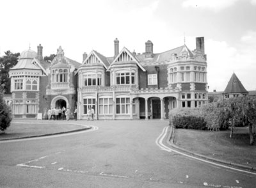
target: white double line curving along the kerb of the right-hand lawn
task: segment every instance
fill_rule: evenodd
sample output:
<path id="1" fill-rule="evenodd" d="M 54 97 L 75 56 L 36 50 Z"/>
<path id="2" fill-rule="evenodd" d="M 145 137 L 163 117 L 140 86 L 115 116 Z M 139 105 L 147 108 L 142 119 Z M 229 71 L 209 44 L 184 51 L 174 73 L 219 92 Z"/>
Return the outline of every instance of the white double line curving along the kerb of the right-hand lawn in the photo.
<path id="1" fill-rule="evenodd" d="M 209 164 L 213 164 L 215 166 L 221 166 L 223 168 L 227 168 L 227 169 L 232 169 L 234 171 L 240 171 L 240 172 L 244 172 L 244 173 L 250 173 L 252 175 L 256 175 L 256 173 L 253 173 L 253 172 L 250 172 L 250 171 L 246 171 L 246 170 L 243 170 L 243 169 L 237 169 L 237 168 L 232 168 L 232 167 L 229 167 L 229 166 L 225 166 L 223 164 L 218 164 L 216 162 L 211 162 L 211 161 L 207 161 L 205 159 L 200 159 L 198 157 L 194 157 L 194 156 L 191 156 L 191 155 L 188 155 L 186 153 L 182 153 L 182 152 L 179 152 L 173 148 L 169 148 L 168 146 L 165 146 L 163 144 L 163 139 L 164 137 L 166 137 L 166 134 L 167 134 L 167 131 L 168 131 L 168 127 L 164 127 L 163 131 L 161 132 L 161 134 L 159 135 L 159 137 L 157 137 L 156 139 L 156 145 L 159 146 L 162 150 L 165 150 L 166 152 L 175 152 L 175 153 L 179 153 L 180 155 L 184 155 L 186 157 L 189 157 L 191 159 L 195 159 L 195 160 L 198 160 L 198 161 L 202 161 L 202 162 L 206 162 L 206 163 L 209 163 Z"/>

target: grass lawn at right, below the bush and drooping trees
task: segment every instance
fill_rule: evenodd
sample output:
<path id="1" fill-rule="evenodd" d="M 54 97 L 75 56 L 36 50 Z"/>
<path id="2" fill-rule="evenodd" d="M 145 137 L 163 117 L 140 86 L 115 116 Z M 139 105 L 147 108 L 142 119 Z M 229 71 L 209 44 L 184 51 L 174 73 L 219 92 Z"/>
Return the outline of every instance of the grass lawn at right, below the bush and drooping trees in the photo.
<path id="1" fill-rule="evenodd" d="M 177 146 L 220 159 L 256 168 L 256 145 L 250 145 L 248 127 L 237 127 L 232 138 L 230 131 L 175 129 Z"/>

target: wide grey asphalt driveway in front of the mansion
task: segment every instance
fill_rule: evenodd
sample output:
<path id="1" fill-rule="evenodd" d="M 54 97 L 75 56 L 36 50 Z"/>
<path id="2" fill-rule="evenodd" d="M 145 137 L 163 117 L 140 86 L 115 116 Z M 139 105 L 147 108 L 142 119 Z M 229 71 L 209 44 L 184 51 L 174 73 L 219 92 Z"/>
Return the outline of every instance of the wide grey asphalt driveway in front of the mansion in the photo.
<path id="1" fill-rule="evenodd" d="M 0 142 L 0 187 L 256 187 L 256 175 L 166 151 L 168 121 L 76 123 L 93 129 Z"/>

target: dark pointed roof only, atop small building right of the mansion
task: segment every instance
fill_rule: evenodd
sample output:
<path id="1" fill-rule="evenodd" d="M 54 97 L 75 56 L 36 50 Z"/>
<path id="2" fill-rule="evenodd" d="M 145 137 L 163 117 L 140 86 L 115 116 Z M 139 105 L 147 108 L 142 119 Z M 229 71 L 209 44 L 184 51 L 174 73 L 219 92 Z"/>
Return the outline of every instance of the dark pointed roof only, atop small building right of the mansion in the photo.
<path id="1" fill-rule="evenodd" d="M 224 93 L 248 93 L 236 74 L 232 74 Z"/>

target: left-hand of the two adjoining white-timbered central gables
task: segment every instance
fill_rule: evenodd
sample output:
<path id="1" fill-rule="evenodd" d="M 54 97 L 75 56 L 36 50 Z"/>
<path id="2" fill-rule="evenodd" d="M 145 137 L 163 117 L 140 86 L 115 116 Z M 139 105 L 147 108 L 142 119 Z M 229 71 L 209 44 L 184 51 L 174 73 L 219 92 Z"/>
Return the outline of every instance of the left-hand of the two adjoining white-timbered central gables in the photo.
<path id="1" fill-rule="evenodd" d="M 93 56 L 95 56 L 95 58 L 93 58 Z M 105 56 L 103 56 L 102 54 L 94 50 L 90 52 L 90 54 L 86 59 L 84 59 L 82 64 L 93 64 L 93 63 L 102 63 L 102 65 L 104 65 L 106 69 L 108 69 L 110 65 L 108 59 Z"/>

